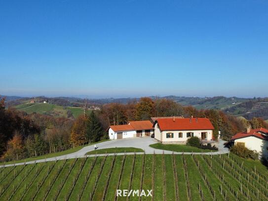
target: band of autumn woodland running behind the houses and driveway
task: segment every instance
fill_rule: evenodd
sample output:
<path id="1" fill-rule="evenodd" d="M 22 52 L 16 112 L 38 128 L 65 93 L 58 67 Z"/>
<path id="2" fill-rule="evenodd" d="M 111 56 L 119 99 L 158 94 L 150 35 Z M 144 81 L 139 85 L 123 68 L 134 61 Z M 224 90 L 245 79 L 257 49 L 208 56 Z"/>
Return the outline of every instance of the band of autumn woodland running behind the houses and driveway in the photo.
<path id="1" fill-rule="evenodd" d="M 215 127 L 214 137 L 218 137 L 220 130 L 225 140 L 237 132 L 245 131 L 249 125 L 252 128 L 268 128 L 268 124 L 260 118 L 246 120 L 220 110 L 197 110 L 160 98 L 152 100 L 143 97 L 127 104 L 105 104 L 100 111 L 92 111 L 76 120 L 35 113 L 29 115 L 12 108 L 6 109 L 4 99 L 1 99 L 0 156 L 8 161 L 63 151 L 107 139 L 109 125 L 173 116 L 208 118 Z"/>

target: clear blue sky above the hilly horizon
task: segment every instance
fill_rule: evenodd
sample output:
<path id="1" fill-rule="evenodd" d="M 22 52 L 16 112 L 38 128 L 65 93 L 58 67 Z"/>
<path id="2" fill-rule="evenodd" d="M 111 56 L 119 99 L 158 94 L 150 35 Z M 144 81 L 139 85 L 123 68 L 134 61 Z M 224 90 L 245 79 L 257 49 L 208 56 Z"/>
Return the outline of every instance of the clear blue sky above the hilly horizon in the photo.
<path id="1" fill-rule="evenodd" d="M 0 0 L 0 94 L 268 96 L 267 0 Z"/>

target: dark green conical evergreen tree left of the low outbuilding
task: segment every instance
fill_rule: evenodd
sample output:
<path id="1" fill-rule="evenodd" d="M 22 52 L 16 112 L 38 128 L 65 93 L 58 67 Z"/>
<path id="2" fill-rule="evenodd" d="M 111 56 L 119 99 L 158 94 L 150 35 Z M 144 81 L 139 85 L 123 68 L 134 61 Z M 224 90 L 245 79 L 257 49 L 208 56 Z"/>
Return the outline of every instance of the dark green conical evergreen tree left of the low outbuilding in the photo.
<path id="1" fill-rule="evenodd" d="M 87 131 L 86 138 L 89 143 L 98 142 L 105 136 L 105 132 L 102 128 L 102 125 L 99 119 L 96 117 L 94 111 L 92 111 L 89 115 L 87 121 Z"/>

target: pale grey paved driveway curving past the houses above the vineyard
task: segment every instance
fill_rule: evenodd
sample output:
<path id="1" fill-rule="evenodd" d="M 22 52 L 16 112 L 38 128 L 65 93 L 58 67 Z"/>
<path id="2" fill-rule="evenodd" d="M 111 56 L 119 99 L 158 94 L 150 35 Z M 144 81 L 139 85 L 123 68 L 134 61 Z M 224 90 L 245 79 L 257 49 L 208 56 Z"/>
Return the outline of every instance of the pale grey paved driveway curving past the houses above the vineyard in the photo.
<path id="1" fill-rule="evenodd" d="M 219 140 L 219 151 L 218 152 L 212 152 L 212 153 L 203 153 L 204 155 L 218 155 L 218 154 L 226 154 L 229 153 L 229 149 L 224 147 L 224 142 L 223 140 Z M 145 154 L 172 154 L 172 151 L 166 151 L 166 150 L 160 150 L 160 149 L 153 149 L 152 147 L 149 147 L 149 145 L 157 143 L 153 138 L 151 137 L 143 137 L 143 138 L 128 138 L 128 139 L 120 139 L 120 140 L 110 140 L 110 141 L 105 141 L 96 144 L 98 149 L 106 149 L 106 148 L 114 148 L 114 147 L 135 147 L 135 148 L 140 148 L 145 151 Z M 45 161 L 56 161 L 56 160 L 64 160 L 64 159 L 75 159 L 75 158 L 83 158 L 83 157 L 95 157 L 95 156 L 105 156 L 105 154 L 98 154 L 98 155 L 87 155 L 85 154 L 87 152 L 93 151 L 94 150 L 94 145 L 86 146 L 79 151 L 72 153 L 72 154 L 67 154 L 63 156 L 58 156 L 58 157 L 53 157 L 53 158 L 48 158 L 48 159 L 41 159 L 37 161 L 29 161 L 26 162 L 26 164 L 32 164 L 35 162 L 45 162 Z M 125 153 L 118 153 L 116 155 L 124 155 Z M 133 155 L 134 153 L 126 153 L 127 155 Z M 136 153 L 136 154 L 144 154 L 143 152 Z M 174 152 L 174 154 L 183 154 L 182 152 Z M 202 154 L 202 153 L 184 153 L 184 154 Z M 114 154 L 107 154 L 108 156 L 114 155 Z M 15 164 L 8 164 L 5 166 L 13 166 L 13 165 L 22 165 L 25 164 L 24 162 L 21 163 L 15 163 Z M 3 167 L 3 165 L 0 165 L 0 167 Z"/>

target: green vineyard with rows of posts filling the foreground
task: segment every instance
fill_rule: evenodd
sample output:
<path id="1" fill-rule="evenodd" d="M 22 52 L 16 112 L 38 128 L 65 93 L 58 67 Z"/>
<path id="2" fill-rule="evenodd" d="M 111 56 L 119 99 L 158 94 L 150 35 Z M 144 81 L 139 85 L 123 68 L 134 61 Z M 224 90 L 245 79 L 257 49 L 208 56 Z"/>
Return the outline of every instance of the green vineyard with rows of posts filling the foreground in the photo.
<path id="1" fill-rule="evenodd" d="M 0 168 L 2 201 L 268 200 L 268 173 L 232 154 L 124 155 Z M 116 189 L 153 197 L 116 197 Z"/>

